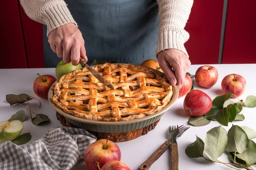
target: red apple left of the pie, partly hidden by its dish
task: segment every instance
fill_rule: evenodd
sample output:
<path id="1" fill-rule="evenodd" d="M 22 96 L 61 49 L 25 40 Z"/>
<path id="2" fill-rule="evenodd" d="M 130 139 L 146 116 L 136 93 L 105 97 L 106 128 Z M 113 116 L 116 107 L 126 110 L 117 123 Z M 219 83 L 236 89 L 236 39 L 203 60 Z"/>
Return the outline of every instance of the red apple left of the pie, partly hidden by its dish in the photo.
<path id="1" fill-rule="evenodd" d="M 33 84 L 33 90 L 35 94 L 43 99 L 48 99 L 48 91 L 51 85 L 57 80 L 55 77 L 51 75 L 40 75 L 38 74 L 38 78 L 35 79 Z"/>

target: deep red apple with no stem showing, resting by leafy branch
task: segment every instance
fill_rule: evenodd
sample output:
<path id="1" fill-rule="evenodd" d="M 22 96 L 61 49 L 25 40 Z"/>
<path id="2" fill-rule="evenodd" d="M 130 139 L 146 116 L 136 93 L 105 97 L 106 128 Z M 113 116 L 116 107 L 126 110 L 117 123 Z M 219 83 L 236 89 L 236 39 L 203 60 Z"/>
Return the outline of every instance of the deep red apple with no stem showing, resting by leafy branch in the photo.
<path id="1" fill-rule="evenodd" d="M 189 116 L 203 116 L 212 108 L 212 99 L 200 90 L 192 90 L 186 95 L 183 107 Z"/>

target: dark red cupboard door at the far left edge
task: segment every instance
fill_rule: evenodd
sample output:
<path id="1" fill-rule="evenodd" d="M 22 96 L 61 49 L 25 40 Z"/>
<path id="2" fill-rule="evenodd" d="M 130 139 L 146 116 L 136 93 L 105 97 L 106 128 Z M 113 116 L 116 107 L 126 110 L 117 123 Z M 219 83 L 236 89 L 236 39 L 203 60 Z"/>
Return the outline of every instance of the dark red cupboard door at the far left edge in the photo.
<path id="1" fill-rule="evenodd" d="M 17 0 L 1 1 L 0 68 L 28 68 Z"/>

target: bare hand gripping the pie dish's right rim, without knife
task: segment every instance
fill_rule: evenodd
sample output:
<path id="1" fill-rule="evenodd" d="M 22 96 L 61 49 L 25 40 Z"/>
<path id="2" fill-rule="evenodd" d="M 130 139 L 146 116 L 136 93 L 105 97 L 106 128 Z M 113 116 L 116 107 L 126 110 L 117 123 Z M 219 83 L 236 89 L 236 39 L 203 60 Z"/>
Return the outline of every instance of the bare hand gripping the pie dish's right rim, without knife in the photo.
<path id="1" fill-rule="evenodd" d="M 157 59 L 171 85 L 177 85 L 180 90 L 191 65 L 189 58 L 180 50 L 166 49 L 158 53 Z"/>

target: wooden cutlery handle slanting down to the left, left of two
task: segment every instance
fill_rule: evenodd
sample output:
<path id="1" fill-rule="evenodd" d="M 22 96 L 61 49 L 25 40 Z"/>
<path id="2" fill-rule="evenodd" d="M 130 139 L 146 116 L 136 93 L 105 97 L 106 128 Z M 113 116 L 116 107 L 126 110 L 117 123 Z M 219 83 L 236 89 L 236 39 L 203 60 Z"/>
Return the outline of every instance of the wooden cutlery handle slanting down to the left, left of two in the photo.
<path id="1" fill-rule="evenodd" d="M 172 142 L 164 142 L 158 149 L 146 160 L 143 164 L 140 165 L 139 170 L 148 170 L 151 165 L 158 159 L 163 153 L 171 146 Z"/>

